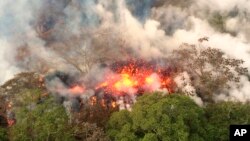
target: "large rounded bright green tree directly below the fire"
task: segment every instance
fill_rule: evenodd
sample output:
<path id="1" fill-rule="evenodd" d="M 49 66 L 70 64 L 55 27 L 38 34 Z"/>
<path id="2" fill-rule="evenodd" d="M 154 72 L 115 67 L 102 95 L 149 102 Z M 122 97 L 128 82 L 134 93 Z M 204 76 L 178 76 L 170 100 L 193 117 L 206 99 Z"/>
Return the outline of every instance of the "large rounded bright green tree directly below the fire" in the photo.
<path id="1" fill-rule="evenodd" d="M 112 140 L 204 140 L 204 111 L 187 96 L 160 93 L 140 97 L 132 112 L 114 113 L 107 126 Z"/>

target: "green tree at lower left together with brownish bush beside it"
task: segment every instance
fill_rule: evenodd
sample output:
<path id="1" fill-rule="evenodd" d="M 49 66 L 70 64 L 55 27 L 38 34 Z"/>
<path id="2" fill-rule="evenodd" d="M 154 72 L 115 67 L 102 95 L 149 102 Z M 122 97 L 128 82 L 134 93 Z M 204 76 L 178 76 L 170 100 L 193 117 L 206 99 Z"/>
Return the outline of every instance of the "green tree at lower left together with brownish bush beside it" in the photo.
<path id="1" fill-rule="evenodd" d="M 16 124 L 10 128 L 10 140 L 17 141 L 107 141 L 96 124 L 69 123 L 64 107 L 52 97 L 43 97 L 39 89 L 27 89 L 15 98 Z"/>

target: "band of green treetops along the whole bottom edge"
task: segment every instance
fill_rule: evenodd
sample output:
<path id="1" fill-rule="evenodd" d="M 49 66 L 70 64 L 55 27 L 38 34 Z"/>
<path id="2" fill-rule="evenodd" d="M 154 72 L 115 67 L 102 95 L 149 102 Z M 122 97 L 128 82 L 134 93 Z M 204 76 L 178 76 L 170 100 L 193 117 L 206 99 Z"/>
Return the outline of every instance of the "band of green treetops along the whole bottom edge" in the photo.
<path id="1" fill-rule="evenodd" d="M 81 122 L 72 124 L 62 105 L 53 98 L 40 99 L 38 90 L 26 90 L 18 98 L 17 122 L 0 128 L 0 140 L 89 141 L 226 141 L 230 124 L 250 123 L 250 104 L 220 102 L 200 107 L 188 96 L 148 93 L 133 110 L 114 112 L 105 128 Z M 108 137 L 109 136 L 109 139 Z"/>

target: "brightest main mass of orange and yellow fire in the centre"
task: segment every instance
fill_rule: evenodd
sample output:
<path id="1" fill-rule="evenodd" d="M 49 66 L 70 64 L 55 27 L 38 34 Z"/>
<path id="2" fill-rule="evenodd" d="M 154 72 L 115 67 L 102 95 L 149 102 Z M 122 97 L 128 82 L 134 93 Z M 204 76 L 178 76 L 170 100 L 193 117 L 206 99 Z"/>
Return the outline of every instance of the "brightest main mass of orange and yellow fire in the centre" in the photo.
<path id="1" fill-rule="evenodd" d="M 116 73 L 106 74 L 105 81 L 97 85 L 96 89 L 104 89 L 105 93 L 112 95 L 139 94 L 163 88 L 172 92 L 174 82 L 169 75 L 164 74 L 165 70 L 145 64 L 133 62 L 114 67 Z"/>

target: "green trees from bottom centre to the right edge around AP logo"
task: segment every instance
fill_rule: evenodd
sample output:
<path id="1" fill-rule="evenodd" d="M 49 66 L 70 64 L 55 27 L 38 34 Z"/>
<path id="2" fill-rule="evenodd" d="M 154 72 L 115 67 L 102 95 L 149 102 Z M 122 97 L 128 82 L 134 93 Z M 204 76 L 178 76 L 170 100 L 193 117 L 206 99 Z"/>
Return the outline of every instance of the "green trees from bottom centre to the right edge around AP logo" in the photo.
<path id="1" fill-rule="evenodd" d="M 230 124 L 249 124 L 250 105 L 221 102 L 199 107 L 189 97 L 160 93 L 139 98 L 133 111 L 113 114 L 112 140 L 227 141 Z"/>

